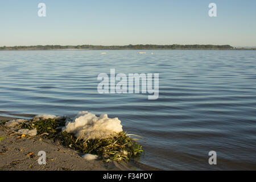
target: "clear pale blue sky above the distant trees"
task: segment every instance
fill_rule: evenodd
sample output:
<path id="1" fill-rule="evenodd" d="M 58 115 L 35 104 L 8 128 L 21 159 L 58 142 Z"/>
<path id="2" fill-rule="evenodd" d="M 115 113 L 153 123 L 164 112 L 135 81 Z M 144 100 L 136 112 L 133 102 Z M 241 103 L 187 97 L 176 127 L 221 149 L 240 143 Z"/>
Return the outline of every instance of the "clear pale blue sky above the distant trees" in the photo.
<path id="1" fill-rule="evenodd" d="M 45 18 L 38 3 L 46 3 Z M 208 5 L 217 4 L 217 17 Z M 8 0 L 0 46 L 230 44 L 256 46 L 255 0 Z"/>

